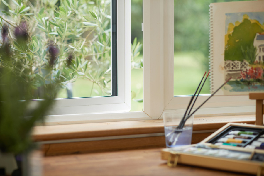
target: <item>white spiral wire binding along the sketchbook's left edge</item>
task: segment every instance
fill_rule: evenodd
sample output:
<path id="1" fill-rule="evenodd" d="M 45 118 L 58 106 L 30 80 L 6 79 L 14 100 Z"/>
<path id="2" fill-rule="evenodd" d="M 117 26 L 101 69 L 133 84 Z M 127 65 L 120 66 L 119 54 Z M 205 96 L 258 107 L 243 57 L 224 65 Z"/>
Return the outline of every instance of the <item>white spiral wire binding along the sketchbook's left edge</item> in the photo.
<path id="1" fill-rule="evenodd" d="M 213 56 L 213 7 L 209 5 L 209 67 L 210 67 L 210 84 L 211 94 L 214 93 L 214 56 Z"/>

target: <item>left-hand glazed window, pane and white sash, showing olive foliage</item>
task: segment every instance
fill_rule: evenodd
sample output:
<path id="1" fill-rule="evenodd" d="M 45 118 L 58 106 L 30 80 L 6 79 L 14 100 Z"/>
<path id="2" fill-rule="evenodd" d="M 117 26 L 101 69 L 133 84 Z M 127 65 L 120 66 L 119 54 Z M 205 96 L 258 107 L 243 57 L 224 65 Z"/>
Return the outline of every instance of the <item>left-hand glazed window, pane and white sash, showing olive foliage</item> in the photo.
<path id="1" fill-rule="evenodd" d="M 56 82 L 61 89 L 51 97 L 56 98 L 53 115 L 129 111 L 125 95 L 130 86 L 125 81 L 129 37 L 124 34 L 130 33 L 125 26 L 130 15 L 125 15 L 124 2 L 1 2 L 1 27 L 8 26 L 12 51 L 25 62 L 33 99 L 41 99 L 41 88 Z M 18 44 L 18 31 L 29 36 L 26 47 Z"/>

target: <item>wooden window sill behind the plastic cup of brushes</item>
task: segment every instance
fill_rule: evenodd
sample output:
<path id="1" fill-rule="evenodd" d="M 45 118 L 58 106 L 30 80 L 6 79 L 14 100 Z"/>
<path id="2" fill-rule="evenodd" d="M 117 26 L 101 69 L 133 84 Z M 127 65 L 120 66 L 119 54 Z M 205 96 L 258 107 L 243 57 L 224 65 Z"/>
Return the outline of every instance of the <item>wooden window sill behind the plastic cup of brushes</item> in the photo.
<path id="1" fill-rule="evenodd" d="M 255 123 L 255 115 L 195 117 L 192 143 L 198 143 L 226 123 Z M 120 121 L 36 126 L 33 140 L 45 155 L 165 147 L 163 120 Z"/>

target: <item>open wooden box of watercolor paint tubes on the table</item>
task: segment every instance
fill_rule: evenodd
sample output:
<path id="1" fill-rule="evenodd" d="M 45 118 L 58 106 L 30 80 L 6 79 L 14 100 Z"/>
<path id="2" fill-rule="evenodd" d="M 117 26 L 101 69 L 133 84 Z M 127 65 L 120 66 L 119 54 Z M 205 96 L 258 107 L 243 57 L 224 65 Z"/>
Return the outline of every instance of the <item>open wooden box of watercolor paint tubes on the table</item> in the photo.
<path id="1" fill-rule="evenodd" d="M 198 144 L 166 148 L 161 158 L 212 169 L 264 174 L 264 126 L 228 123 Z"/>

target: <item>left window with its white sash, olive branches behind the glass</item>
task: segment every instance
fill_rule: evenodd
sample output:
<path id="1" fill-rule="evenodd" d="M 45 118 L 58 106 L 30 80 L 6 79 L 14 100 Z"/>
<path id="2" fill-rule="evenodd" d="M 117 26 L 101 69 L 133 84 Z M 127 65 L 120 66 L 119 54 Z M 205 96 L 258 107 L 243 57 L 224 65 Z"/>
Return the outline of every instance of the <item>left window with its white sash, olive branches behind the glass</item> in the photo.
<path id="1" fill-rule="evenodd" d="M 130 4 L 117 0 L 32 1 L 26 4 L 26 2 L 18 0 L 10 1 L 11 5 L 9 6 L 6 1 L 1 2 L 4 3 L 1 5 L 6 9 L 6 11 L 2 11 L 5 14 L 1 15 L 1 24 L 8 23 L 10 26 L 16 27 L 16 23 L 9 21 L 5 18 L 6 16 L 19 16 L 18 19 L 28 19 L 28 21 L 18 21 L 18 23 L 25 23 L 31 27 L 32 31 L 37 31 L 32 36 L 34 45 L 31 50 L 43 56 L 41 64 L 53 67 L 54 78 L 65 79 L 62 82 L 63 87 L 70 90 L 71 82 L 75 81 L 72 79 L 74 76 L 92 79 L 92 85 L 89 85 L 90 89 L 84 89 L 86 95 L 73 95 L 75 98 L 70 98 L 69 91 L 66 96 L 66 91 L 59 94 L 59 98 L 69 98 L 56 99 L 50 114 L 129 111 L 131 106 L 129 76 L 131 73 L 128 69 L 130 68 L 129 55 L 131 53 Z M 47 10 L 43 6 L 52 8 Z M 32 24 L 32 21 L 36 21 L 36 23 Z M 44 35 L 42 31 L 44 31 Z M 11 32 L 10 35 L 12 35 Z M 45 47 L 48 49 L 45 50 Z M 49 53 L 49 48 L 52 47 L 56 50 L 57 55 L 53 64 L 49 64 L 51 63 L 48 60 L 49 54 L 45 53 Z M 70 60 L 72 62 L 69 65 L 58 64 L 61 62 L 57 61 L 58 55 L 69 55 L 70 57 L 71 53 L 75 56 L 75 53 L 79 51 L 82 53 L 76 55 L 76 61 L 75 59 Z M 64 57 L 63 62 L 67 61 L 69 57 Z M 68 69 L 68 67 L 74 68 Z M 92 75 L 92 72 L 95 74 Z M 40 73 L 38 75 L 43 76 Z M 45 75 L 43 78 L 45 79 Z M 78 81 L 83 82 L 77 79 L 76 82 Z M 68 82 L 69 84 L 67 84 Z M 94 88 L 96 84 L 97 89 Z M 79 85 L 87 87 L 87 84 Z"/>

